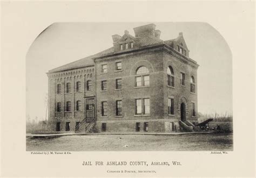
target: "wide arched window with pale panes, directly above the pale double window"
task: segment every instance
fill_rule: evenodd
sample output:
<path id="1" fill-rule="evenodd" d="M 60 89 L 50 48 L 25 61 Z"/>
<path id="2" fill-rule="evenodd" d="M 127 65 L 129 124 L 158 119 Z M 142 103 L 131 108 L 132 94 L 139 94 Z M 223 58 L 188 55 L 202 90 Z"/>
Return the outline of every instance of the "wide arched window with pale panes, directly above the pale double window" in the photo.
<path id="1" fill-rule="evenodd" d="M 149 86 L 150 84 L 150 77 L 149 77 L 149 69 L 145 66 L 141 66 L 136 70 L 136 77 L 135 77 L 135 86 Z"/>

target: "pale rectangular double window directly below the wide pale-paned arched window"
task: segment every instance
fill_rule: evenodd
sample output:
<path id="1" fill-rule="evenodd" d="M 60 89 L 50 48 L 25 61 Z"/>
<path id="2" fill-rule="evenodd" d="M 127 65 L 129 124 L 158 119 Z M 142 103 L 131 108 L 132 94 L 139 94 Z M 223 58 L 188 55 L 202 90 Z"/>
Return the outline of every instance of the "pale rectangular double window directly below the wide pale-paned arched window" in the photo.
<path id="1" fill-rule="evenodd" d="M 150 114 L 150 99 L 136 99 L 136 115 L 149 115 Z"/>

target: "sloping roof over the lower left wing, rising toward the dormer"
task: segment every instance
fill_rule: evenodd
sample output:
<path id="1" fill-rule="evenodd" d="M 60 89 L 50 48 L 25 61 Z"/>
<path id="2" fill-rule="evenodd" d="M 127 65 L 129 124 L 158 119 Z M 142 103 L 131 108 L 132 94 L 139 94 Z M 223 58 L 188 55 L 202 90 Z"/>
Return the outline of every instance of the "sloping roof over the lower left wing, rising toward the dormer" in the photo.
<path id="1" fill-rule="evenodd" d="M 94 65 L 94 61 L 92 60 L 92 58 L 96 58 L 100 55 L 111 54 L 113 52 L 114 52 L 114 47 L 111 47 L 111 48 L 108 48 L 108 49 L 106 49 L 102 52 L 99 52 L 97 54 L 87 56 L 86 58 L 82 58 L 82 59 L 79 59 L 77 61 L 70 62 L 66 65 L 51 69 L 51 70 L 49 70 L 49 73 L 59 72 L 59 71 L 62 71 L 62 70 L 68 70 L 68 69 L 78 68 L 78 67 L 83 67 L 83 66 Z"/>

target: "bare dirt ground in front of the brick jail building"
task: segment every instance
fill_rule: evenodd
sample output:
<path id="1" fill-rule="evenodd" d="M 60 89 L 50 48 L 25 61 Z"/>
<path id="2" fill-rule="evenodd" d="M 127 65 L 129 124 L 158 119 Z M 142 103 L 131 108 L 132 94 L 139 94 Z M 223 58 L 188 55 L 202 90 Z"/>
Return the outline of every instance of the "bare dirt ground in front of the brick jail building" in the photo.
<path id="1" fill-rule="evenodd" d="M 232 133 L 26 138 L 26 151 L 232 151 Z"/>

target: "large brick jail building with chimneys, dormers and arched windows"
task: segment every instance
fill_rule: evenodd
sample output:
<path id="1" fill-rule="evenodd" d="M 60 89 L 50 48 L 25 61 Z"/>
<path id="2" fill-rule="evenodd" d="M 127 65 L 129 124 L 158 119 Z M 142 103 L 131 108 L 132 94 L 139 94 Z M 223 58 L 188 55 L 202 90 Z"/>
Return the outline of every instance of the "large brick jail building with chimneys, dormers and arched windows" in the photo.
<path id="1" fill-rule="evenodd" d="M 173 132 L 197 123 L 197 68 L 183 34 L 156 25 L 112 35 L 103 52 L 49 70 L 54 131 Z"/>

